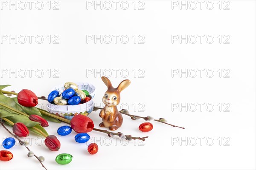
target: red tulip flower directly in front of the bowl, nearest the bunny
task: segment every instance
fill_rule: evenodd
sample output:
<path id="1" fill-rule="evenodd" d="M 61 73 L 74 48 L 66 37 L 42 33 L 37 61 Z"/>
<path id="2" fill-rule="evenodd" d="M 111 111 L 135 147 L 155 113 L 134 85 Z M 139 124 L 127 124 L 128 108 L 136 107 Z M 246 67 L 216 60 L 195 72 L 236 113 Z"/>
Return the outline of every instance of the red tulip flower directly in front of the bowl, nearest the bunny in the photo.
<path id="1" fill-rule="evenodd" d="M 94 127 L 93 120 L 81 114 L 74 116 L 70 121 L 70 125 L 77 133 L 90 132 Z"/>

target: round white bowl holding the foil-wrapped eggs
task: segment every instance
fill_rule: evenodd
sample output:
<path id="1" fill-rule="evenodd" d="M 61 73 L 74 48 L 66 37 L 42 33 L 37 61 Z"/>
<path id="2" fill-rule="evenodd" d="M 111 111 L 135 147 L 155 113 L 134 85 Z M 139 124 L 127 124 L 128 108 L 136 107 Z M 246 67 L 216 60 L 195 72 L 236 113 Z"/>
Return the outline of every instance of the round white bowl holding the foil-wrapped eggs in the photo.
<path id="1" fill-rule="evenodd" d="M 93 97 L 95 96 L 95 87 L 87 82 L 77 82 L 78 89 L 87 90 L 91 96 L 90 101 L 80 105 L 54 105 L 51 103 L 47 104 L 47 110 L 57 116 L 61 116 L 66 119 L 72 119 L 76 114 L 82 114 L 87 116 L 93 111 Z M 57 90 L 60 94 L 65 90 L 64 84 L 57 85 L 52 88 L 52 91 Z"/>

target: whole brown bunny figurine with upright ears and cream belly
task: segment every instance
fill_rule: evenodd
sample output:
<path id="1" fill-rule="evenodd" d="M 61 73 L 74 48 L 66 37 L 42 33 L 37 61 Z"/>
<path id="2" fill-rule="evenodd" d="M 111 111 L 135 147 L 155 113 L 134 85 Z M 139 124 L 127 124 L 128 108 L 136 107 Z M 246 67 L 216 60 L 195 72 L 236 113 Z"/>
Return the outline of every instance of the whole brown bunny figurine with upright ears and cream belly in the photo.
<path id="1" fill-rule="evenodd" d="M 108 90 L 102 98 L 105 107 L 100 111 L 99 116 L 102 118 L 100 127 L 108 127 L 109 130 L 116 130 L 122 125 L 122 114 L 117 110 L 117 105 L 120 102 L 120 92 L 131 84 L 131 81 L 126 79 L 120 82 L 117 88 L 113 88 L 110 80 L 107 77 L 102 77 L 102 81 L 108 87 Z"/>

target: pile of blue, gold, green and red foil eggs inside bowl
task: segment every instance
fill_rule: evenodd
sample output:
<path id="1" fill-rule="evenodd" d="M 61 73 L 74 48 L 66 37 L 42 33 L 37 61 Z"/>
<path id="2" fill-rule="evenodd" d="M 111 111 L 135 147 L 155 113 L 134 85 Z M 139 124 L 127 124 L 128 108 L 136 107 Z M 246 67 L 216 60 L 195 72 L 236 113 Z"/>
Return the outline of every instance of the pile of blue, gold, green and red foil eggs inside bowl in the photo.
<path id="1" fill-rule="evenodd" d="M 78 105 L 90 101 L 91 97 L 88 91 L 79 90 L 78 85 L 73 82 L 64 84 L 65 90 L 59 94 L 57 90 L 48 95 L 48 102 L 55 105 Z"/>

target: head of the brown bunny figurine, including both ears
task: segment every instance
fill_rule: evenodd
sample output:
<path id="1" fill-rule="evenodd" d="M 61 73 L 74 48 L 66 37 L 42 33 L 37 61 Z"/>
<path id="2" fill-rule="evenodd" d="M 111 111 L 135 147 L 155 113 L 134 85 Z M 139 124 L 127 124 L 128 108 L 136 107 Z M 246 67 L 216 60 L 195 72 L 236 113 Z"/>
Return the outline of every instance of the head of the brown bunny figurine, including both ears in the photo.
<path id="1" fill-rule="evenodd" d="M 107 105 L 108 107 L 110 106 L 116 106 L 120 102 L 120 92 L 124 90 L 125 88 L 130 85 L 130 80 L 126 79 L 120 82 L 117 88 L 113 88 L 110 80 L 107 77 L 102 77 L 102 81 L 105 83 L 105 85 L 108 87 L 108 90 L 104 94 L 102 98 L 102 102 Z"/>

